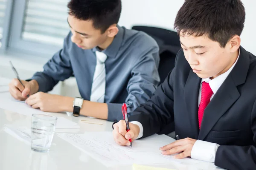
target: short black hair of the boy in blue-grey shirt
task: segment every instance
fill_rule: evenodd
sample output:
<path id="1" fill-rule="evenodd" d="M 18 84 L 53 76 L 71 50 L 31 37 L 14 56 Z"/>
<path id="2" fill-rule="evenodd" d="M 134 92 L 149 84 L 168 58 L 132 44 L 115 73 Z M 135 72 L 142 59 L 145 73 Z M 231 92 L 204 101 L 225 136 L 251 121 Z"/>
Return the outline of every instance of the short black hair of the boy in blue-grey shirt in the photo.
<path id="1" fill-rule="evenodd" d="M 117 24 L 121 15 L 121 0 L 71 0 L 68 14 L 79 20 L 92 20 L 93 27 L 104 33 Z"/>

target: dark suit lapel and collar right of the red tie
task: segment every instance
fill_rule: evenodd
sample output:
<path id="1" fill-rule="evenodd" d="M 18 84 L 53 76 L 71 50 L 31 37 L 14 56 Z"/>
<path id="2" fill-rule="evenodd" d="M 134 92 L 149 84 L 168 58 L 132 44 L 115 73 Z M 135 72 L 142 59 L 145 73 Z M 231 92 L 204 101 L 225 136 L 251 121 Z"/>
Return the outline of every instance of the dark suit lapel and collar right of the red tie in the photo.
<path id="1" fill-rule="evenodd" d="M 240 93 L 237 86 L 245 82 L 249 66 L 250 59 L 248 53 L 240 46 L 240 56 L 236 65 L 204 110 L 204 117 L 198 136 L 199 140 L 206 138 L 216 122 L 239 98 Z"/>

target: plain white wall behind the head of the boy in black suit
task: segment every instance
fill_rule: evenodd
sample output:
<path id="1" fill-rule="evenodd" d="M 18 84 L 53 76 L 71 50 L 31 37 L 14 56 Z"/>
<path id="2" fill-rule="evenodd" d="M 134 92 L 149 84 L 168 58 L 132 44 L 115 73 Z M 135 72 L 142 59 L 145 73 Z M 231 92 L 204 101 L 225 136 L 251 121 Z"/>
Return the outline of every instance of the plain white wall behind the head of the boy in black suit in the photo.
<path id="1" fill-rule="evenodd" d="M 177 11 L 184 0 L 122 0 L 120 26 L 131 28 L 134 25 L 157 26 L 173 30 Z M 242 0 L 246 19 L 241 34 L 241 45 L 256 55 L 256 1 Z"/>

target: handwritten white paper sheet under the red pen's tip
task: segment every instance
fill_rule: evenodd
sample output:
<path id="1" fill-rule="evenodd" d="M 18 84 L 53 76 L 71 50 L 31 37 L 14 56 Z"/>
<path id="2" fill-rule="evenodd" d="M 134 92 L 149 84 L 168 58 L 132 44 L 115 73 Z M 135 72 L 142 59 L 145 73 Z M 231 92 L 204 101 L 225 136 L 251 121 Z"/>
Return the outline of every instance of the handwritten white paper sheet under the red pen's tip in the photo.
<path id="1" fill-rule="evenodd" d="M 70 142 L 107 167 L 128 164 L 170 164 L 182 163 L 194 165 L 201 161 L 183 159 L 176 161 L 173 156 L 164 156 L 159 147 L 173 142 L 175 139 L 166 135 L 153 135 L 145 139 L 135 140 L 133 147 L 122 147 L 113 140 L 112 132 L 93 132 L 84 134 L 58 133 L 57 136 Z M 184 163 L 185 162 L 185 163 Z"/>

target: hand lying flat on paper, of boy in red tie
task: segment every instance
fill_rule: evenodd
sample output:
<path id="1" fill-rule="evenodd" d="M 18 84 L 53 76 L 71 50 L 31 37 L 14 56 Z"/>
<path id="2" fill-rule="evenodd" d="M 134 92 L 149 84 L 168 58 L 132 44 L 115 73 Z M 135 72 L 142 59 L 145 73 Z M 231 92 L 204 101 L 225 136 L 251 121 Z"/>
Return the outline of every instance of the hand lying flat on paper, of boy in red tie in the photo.
<path id="1" fill-rule="evenodd" d="M 195 144 L 196 140 L 191 138 L 180 139 L 170 144 L 167 144 L 163 147 L 160 147 L 163 155 L 172 155 L 175 153 L 180 153 L 175 155 L 176 159 L 183 159 L 188 156 L 191 156 L 192 148 Z"/>

